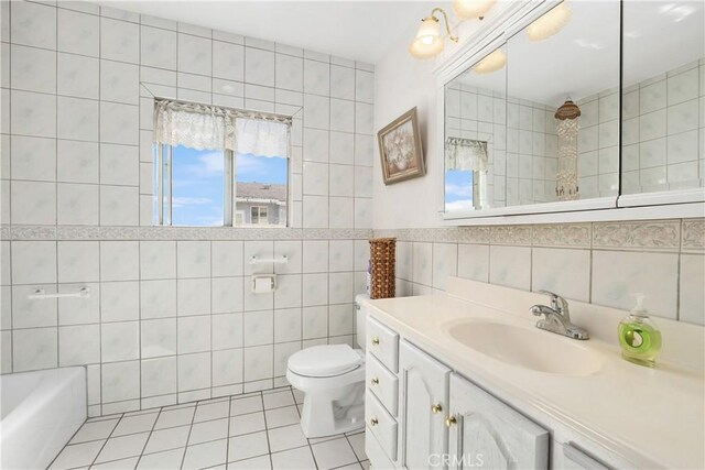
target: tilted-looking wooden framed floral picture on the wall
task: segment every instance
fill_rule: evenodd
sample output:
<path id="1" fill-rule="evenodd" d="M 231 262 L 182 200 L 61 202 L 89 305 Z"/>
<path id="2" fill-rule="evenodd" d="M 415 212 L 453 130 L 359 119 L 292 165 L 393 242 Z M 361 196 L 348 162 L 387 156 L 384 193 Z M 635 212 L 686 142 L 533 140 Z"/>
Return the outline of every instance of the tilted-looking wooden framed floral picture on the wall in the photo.
<path id="1" fill-rule="evenodd" d="M 426 174 L 416 108 L 404 112 L 380 130 L 377 140 L 386 185 Z"/>

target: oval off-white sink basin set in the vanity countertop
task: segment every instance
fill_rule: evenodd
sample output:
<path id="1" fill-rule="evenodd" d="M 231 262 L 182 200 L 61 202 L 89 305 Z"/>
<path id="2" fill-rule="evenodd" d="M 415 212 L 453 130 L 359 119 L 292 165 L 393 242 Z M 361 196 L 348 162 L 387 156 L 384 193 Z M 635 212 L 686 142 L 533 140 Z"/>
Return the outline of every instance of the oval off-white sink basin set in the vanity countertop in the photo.
<path id="1" fill-rule="evenodd" d="M 601 367 L 599 354 L 581 341 L 549 331 L 489 320 L 451 325 L 451 337 L 505 363 L 561 375 L 590 375 Z"/>

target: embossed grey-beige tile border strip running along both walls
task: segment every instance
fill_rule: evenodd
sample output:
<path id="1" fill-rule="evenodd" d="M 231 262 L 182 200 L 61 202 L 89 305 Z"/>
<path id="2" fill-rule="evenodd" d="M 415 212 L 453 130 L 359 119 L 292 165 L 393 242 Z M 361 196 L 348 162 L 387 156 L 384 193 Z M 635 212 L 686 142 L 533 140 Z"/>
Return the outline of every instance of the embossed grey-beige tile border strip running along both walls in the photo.
<path id="1" fill-rule="evenodd" d="M 0 226 L 0 240 L 367 240 L 705 252 L 705 218 L 414 229 Z"/>

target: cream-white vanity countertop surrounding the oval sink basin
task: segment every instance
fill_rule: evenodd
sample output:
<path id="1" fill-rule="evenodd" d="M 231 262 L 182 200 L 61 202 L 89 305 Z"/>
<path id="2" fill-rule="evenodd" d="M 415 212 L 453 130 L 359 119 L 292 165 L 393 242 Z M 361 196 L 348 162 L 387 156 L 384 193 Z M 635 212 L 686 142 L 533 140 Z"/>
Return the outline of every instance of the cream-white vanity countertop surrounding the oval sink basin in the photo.
<path id="1" fill-rule="evenodd" d="M 705 468 L 701 371 L 663 362 L 654 369 L 639 367 L 621 359 L 617 346 L 599 339 L 581 341 L 603 359 L 593 375 L 530 371 L 477 352 L 447 332 L 448 324 L 460 319 L 532 327 L 535 318 L 528 309 L 509 314 L 446 294 L 369 305 L 372 317 L 549 428 L 565 426 L 638 468 Z"/>

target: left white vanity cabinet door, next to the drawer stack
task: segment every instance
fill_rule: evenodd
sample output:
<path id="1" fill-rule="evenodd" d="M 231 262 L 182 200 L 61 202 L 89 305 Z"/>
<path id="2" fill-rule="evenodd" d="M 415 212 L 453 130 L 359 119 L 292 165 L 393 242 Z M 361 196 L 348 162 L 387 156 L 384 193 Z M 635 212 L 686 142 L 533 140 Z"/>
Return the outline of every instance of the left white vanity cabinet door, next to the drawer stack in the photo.
<path id="1" fill-rule="evenodd" d="M 448 403 L 451 369 L 406 341 L 399 353 L 400 453 L 404 469 L 436 467 L 430 460 L 447 453 L 444 416 Z"/>

